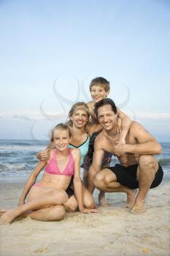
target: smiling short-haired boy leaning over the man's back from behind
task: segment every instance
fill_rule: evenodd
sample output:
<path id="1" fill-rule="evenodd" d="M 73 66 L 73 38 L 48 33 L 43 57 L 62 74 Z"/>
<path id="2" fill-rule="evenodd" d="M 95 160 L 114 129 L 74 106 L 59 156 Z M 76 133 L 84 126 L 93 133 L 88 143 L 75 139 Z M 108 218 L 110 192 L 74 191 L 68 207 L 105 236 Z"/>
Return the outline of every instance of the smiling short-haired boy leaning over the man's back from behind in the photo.
<path id="1" fill-rule="evenodd" d="M 94 107 L 96 102 L 99 102 L 101 99 L 104 99 L 109 95 L 109 91 L 110 91 L 109 81 L 105 78 L 101 78 L 101 77 L 94 78 L 90 82 L 90 94 L 93 99 L 92 101 L 87 103 L 88 108 L 90 110 L 90 123 L 98 124 L 98 120 L 94 113 Z M 118 127 L 121 126 L 121 130 L 119 131 L 120 140 L 117 143 L 125 143 L 125 137 L 131 125 L 131 119 L 119 109 L 117 109 L 117 116 L 118 116 Z M 94 140 L 96 139 L 97 135 L 98 133 L 94 133 L 90 138 L 88 154 L 85 157 L 85 161 L 83 165 L 85 169 L 85 173 L 88 173 L 88 169 L 90 168 L 90 165 L 93 162 Z M 112 154 L 105 152 L 104 160 L 102 162 L 102 167 L 109 167 L 111 159 L 112 159 Z M 98 200 L 101 206 L 107 206 L 107 203 L 104 200 L 104 193 L 101 192 L 98 195 Z"/>

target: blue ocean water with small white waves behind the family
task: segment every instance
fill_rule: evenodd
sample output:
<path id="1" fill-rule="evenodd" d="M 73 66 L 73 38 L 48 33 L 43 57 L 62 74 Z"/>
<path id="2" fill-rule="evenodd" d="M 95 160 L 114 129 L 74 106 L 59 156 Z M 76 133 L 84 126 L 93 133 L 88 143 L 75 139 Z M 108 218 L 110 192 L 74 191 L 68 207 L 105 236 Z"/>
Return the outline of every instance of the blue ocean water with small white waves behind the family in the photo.
<path id="1" fill-rule="evenodd" d="M 47 140 L 0 140 L 0 182 L 26 181 L 38 162 L 36 154 L 47 144 Z M 170 143 L 161 143 L 161 146 L 162 154 L 155 157 L 163 170 L 170 172 Z M 113 157 L 112 164 L 116 162 Z"/>

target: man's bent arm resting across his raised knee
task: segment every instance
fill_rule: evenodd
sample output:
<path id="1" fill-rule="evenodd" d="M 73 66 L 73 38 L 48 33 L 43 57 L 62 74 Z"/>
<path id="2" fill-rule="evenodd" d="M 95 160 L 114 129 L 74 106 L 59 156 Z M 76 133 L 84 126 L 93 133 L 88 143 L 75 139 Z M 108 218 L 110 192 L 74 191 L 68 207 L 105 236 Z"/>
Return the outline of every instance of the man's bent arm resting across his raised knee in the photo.
<path id="1" fill-rule="evenodd" d="M 155 138 L 136 121 L 133 121 L 131 124 L 130 137 L 131 136 L 136 139 L 136 143 L 115 146 L 115 151 L 118 154 L 161 154 L 161 145 L 158 143 L 158 141 L 155 140 Z"/>

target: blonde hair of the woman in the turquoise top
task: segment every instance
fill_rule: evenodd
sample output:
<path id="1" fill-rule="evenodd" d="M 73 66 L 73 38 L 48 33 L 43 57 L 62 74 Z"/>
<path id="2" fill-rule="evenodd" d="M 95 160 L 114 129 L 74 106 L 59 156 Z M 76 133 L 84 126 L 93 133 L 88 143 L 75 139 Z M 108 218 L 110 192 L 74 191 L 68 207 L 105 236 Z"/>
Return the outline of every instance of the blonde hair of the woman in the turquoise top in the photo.
<path id="1" fill-rule="evenodd" d="M 66 122 L 67 125 L 69 125 L 69 127 L 73 126 L 73 122 L 72 122 L 72 115 L 74 114 L 75 111 L 77 110 L 85 110 L 85 112 L 88 115 L 88 122 L 85 125 L 85 131 L 88 132 L 88 123 L 89 123 L 89 118 L 90 118 L 90 111 L 88 108 L 88 105 L 85 102 L 77 102 L 74 105 L 72 105 L 72 108 L 69 110 L 69 121 Z"/>

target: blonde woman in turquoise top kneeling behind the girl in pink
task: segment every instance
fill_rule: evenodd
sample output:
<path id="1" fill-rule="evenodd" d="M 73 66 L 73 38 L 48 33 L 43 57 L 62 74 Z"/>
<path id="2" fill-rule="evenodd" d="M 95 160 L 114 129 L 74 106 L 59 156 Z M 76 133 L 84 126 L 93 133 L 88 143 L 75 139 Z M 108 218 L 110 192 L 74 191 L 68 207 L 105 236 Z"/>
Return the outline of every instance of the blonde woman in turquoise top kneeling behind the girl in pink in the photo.
<path id="1" fill-rule="evenodd" d="M 69 143 L 69 148 L 78 148 L 80 150 L 80 166 L 84 162 L 85 155 L 88 153 L 90 135 L 101 129 L 100 124 L 89 124 L 89 109 L 85 102 L 77 102 L 69 110 L 69 121 L 67 124 L 72 130 L 72 137 Z M 53 148 L 53 143 L 50 143 L 48 148 L 39 154 L 37 158 L 41 161 L 47 160 L 48 150 Z M 81 168 L 82 180 L 83 182 L 87 178 L 87 173 L 83 173 Z M 85 182 L 84 182 L 85 183 Z M 72 192 L 72 182 L 69 185 L 69 192 L 71 192 L 71 197 L 65 204 L 66 211 L 74 211 L 77 208 L 77 200 Z M 89 195 L 88 189 L 82 184 L 82 193 L 84 196 L 85 206 L 88 208 L 93 208 L 93 201 L 91 195 Z"/>

